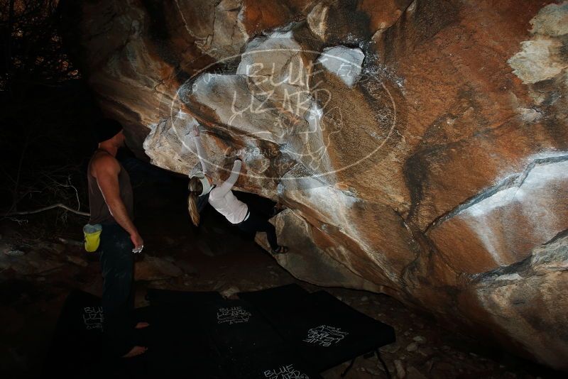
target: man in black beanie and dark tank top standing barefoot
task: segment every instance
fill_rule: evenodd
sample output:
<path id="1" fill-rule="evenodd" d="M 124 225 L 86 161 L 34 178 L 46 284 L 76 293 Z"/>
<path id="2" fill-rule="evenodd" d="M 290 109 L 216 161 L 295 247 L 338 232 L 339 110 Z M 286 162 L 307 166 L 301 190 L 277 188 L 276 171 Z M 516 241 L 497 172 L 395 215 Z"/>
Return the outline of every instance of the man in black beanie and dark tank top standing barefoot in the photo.
<path id="1" fill-rule="evenodd" d="M 134 342 L 133 329 L 148 323 L 133 324 L 133 248 L 141 250 L 143 240 L 133 224 L 133 196 L 130 177 L 116 160 L 124 146 L 119 122 L 104 119 L 96 128 L 99 148 L 87 169 L 89 182 L 89 224 L 102 224 L 99 245 L 103 277 L 102 307 L 104 334 L 114 356 L 130 358 L 146 352 Z"/>

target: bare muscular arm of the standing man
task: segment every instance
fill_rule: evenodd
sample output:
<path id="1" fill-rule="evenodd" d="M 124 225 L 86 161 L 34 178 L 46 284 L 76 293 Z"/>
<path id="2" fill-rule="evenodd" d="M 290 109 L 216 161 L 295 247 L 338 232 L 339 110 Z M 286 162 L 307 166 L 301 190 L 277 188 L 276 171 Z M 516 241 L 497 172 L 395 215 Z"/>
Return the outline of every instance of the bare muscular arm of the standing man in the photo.
<path id="1" fill-rule="evenodd" d="M 111 215 L 130 234 L 134 248 L 139 248 L 143 245 L 142 238 L 120 198 L 119 172 L 121 167 L 119 163 L 110 155 L 102 155 L 92 164 L 92 174 L 97 179 L 97 185 L 101 189 L 104 202 L 107 203 Z"/>

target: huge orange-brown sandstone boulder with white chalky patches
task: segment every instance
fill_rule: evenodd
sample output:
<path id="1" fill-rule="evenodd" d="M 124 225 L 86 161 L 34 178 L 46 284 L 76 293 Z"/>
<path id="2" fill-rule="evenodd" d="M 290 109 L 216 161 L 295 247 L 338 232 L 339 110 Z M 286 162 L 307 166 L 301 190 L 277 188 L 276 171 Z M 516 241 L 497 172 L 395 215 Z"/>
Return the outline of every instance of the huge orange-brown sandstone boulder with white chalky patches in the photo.
<path id="1" fill-rule="evenodd" d="M 198 124 L 242 158 L 297 278 L 568 370 L 568 1 L 69 3 L 129 143 L 187 173 Z"/>

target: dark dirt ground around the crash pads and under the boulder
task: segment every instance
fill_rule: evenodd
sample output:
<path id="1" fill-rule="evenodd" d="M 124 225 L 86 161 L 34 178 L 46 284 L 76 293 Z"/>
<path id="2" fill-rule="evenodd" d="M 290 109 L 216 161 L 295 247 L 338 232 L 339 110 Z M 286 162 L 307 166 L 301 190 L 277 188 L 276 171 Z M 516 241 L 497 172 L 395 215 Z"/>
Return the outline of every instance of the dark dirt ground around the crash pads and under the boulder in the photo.
<path id="1" fill-rule="evenodd" d="M 181 195 L 180 195 L 181 196 Z M 181 200 L 181 199 L 180 199 Z M 280 268 L 251 238 L 209 215 L 200 229 L 188 224 L 183 207 L 156 202 L 138 219 L 145 249 L 136 263 L 136 306 L 147 305 L 146 288 L 260 290 L 297 282 L 310 292 L 322 288 L 301 282 Z M 53 215 L 18 224 L 0 222 L 0 377 L 33 378 L 50 343 L 67 293 L 80 288 L 101 295 L 96 254 L 73 241 L 84 220 L 50 224 Z M 49 230 L 49 232 L 48 232 Z M 63 238 L 63 239 L 61 239 Z M 16 252 L 16 253 L 14 253 Z M 408 309 L 386 295 L 325 288 L 339 300 L 395 328 L 395 344 L 381 348 L 393 378 L 552 378 L 542 366 L 501 352 Z M 491 353 L 489 353 L 491 351 Z M 349 362 L 322 376 L 341 378 Z M 357 358 L 345 378 L 387 378 L 376 356 Z"/>

